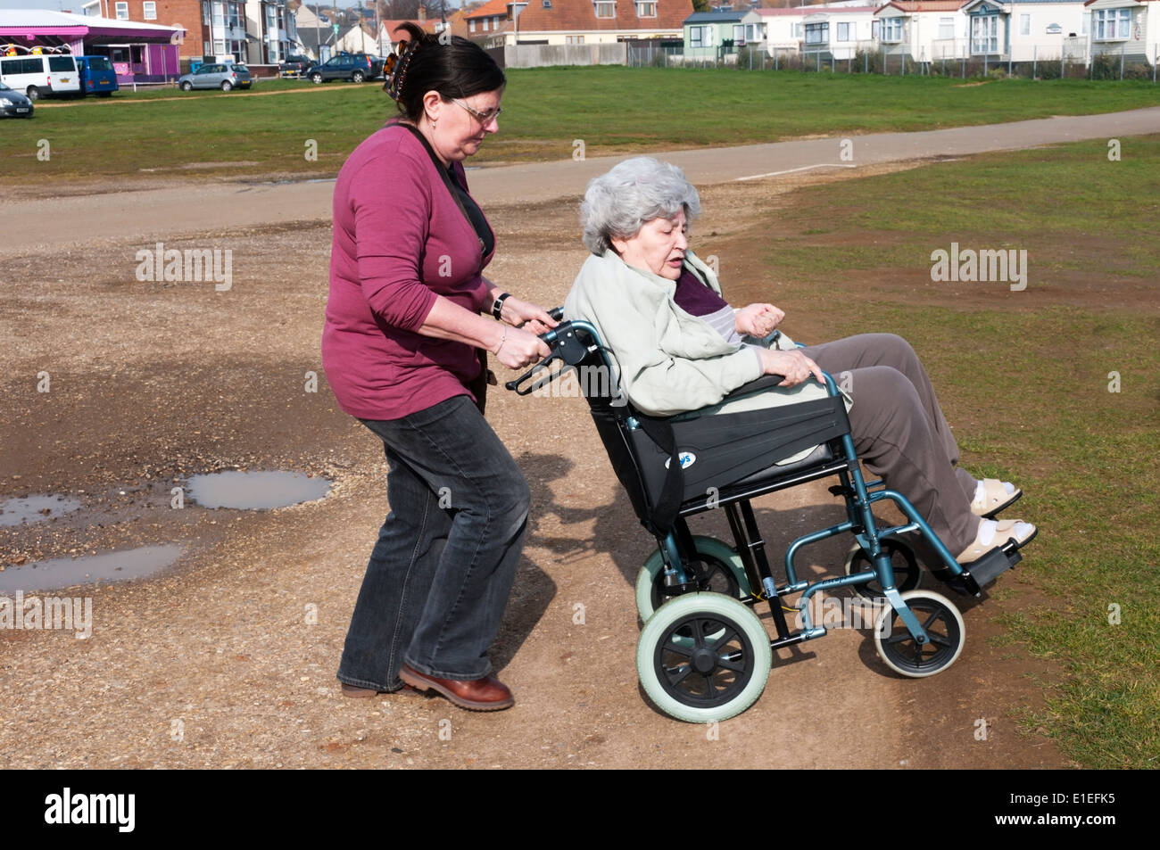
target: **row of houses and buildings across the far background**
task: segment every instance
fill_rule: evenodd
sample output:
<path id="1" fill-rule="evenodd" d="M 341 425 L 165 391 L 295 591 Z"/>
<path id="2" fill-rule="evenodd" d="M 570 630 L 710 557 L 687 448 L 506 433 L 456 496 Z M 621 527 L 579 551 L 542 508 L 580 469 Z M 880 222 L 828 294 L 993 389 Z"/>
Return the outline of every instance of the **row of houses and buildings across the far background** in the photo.
<path id="1" fill-rule="evenodd" d="M 403 23 L 364 21 L 341 31 L 300 0 L 88 0 L 81 8 L 84 16 L 0 13 L 0 41 L 96 45 L 123 70 L 122 81 L 146 82 L 203 58 L 276 66 L 302 53 L 324 60 L 339 51 L 386 56 Z M 691 0 L 487 0 L 445 19 L 429 19 L 420 7 L 415 22 L 486 48 L 630 42 L 694 61 L 742 49 L 824 61 L 860 52 L 915 63 L 1086 63 L 1111 52 L 1154 64 L 1160 56 L 1160 0 L 842 0 L 699 13 Z"/>

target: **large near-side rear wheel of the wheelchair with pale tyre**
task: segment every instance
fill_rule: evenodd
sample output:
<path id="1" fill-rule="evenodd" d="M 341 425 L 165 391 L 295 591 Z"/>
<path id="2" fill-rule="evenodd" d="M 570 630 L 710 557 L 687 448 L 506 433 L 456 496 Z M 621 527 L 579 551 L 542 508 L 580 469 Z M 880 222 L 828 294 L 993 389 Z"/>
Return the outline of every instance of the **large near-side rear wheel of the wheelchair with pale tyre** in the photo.
<path id="1" fill-rule="evenodd" d="M 648 698 L 693 724 L 740 714 L 766 689 L 773 652 L 753 609 L 723 594 L 666 602 L 637 641 L 637 674 Z"/>

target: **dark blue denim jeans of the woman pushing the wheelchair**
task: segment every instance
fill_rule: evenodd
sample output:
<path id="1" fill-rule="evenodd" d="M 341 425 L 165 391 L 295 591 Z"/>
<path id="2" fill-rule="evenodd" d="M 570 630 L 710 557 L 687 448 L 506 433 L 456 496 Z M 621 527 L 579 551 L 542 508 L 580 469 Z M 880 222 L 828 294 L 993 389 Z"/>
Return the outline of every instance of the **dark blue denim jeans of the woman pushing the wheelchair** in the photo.
<path id="1" fill-rule="evenodd" d="M 391 513 L 367 565 L 339 680 L 399 690 L 404 662 L 440 678 L 486 676 L 523 547 L 528 484 L 466 395 L 361 421 L 383 439 Z"/>

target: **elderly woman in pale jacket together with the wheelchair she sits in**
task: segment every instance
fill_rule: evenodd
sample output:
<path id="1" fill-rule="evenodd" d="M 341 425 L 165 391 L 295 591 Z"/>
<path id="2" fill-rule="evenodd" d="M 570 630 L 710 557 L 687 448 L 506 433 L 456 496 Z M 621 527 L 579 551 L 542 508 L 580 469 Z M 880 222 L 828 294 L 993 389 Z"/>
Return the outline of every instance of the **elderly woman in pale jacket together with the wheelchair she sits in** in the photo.
<path id="1" fill-rule="evenodd" d="M 651 158 L 593 180 L 581 206 L 592 256 L 565 302 L 567 321 L 545 337 L 553 358 L 611 377 L 607 392 L 586 394 L 658 540 L 637 586 L 646 692 L 682 720 L 744 711 L 764 686 L 771 648 L 826 633 L 811 620 L 814 594 L 847 586 L 878 604 L 875 641 L 887 666 L 906 676 L 945 669 L 962 649 L 963 619 L 942 595 L 915 589 L 914 551 L 952 589 L 979 595 L 1036 533 L 994 518 L 1021 492 L 957 466 L 958 446 L 905 340 L 865 334 L 802 348 L 778 332 L 783 313 L 771 304 L 733 310 L 689 250 L 698 212 L 681 170 Z M 828 373 L 842 375 L 848 394 Z M 864 481 L 860 460 L 882 480 Z M 749 500 L 835 475 L 831 492 L 844 497 L 847 521 L 791 543 L 778 584 Z M 882 500 L 902 525 L 878 528 L 871 506 Z M 718 507 L 735 547 L 686 524 Z M 846 575 L 797 577 L 803 546 L 847 532 Z M 791 632 L 782 600 L 796 593 L 803 627 Z M 776 639 L 754 615 L 757 602 L 769 603 Z"/>

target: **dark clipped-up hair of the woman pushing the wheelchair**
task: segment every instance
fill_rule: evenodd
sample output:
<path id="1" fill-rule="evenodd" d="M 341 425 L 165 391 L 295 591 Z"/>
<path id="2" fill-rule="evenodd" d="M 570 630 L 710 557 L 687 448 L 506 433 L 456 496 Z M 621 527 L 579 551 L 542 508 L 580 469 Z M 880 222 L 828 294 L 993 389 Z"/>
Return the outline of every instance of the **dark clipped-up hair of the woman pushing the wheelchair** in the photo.
<path id="1" fill-rule="evenodd" d="M 411 36 L 409 46 L 387 82 L 394 102 L 408 121 L 419 122 L 423 95 L 438 92 L 444 100 L 494 92 L 507 82 L 495 60 L 474 42 L 462 36 L 425 32 L 409 21 L 396 27 Z"/>

